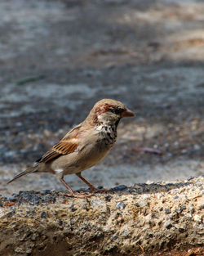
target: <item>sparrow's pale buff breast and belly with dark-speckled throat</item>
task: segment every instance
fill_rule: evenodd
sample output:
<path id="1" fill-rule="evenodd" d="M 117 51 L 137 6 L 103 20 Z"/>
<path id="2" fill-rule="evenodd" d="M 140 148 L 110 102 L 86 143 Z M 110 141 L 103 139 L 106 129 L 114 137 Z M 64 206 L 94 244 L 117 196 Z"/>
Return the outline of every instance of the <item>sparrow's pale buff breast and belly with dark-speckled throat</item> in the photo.
<path id="1" fill-rule="evenodd" d="M 62 169 L 66 175 L 90 168 L 104 159 L 116 141 L 116 137 L 116 128 L 112 126 L 98 127 L 95 132 L 92 131 L 91 134 L 88 133 L 83 137 L 78 150 L 55 159 L 51 164 L 51 169 Z"/>

